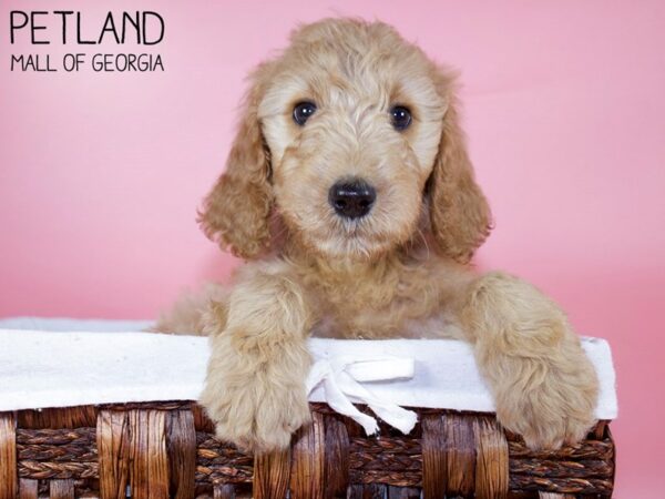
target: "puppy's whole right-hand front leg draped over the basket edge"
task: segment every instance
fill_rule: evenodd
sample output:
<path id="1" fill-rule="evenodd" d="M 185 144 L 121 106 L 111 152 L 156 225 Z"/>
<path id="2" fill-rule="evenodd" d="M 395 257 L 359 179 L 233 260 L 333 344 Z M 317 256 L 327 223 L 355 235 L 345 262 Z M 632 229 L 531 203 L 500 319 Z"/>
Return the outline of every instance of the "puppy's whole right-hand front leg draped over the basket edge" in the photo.
<path id="1" fill-rule="evenodd" d="M 462 324 L 499 421 L 534 449 L 584 438 L 598 384 L 563 312 L 533 286 L 500 273 L 469 289 Z"/>

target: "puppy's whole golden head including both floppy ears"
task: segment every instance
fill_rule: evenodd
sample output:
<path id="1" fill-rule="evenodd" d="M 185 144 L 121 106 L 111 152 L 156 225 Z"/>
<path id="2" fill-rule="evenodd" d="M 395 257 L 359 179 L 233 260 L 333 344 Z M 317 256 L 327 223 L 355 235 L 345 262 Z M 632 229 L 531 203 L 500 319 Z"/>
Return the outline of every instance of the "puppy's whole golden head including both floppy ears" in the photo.
<path id="1" fill-rule="evenodd" d="M 226 171 L 201 213 L 206 235 L 257 257 L 276 213 L 310 251 L 372 258 L 412 240 L 424 220 L 443 253 L 468 261 L 490 212 L 453 86 L 383 23 L 300 28 L 252 75 Z"/>

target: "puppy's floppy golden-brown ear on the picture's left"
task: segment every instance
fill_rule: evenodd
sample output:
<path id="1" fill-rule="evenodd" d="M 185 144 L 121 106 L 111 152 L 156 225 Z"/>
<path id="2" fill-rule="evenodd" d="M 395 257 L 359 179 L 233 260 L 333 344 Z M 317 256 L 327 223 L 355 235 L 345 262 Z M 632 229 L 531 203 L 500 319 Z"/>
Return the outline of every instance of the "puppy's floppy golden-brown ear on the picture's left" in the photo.
<path id="1" fill-rule="evenodd" d="M 250 75 L 226 169 L 198 212 L 205 235 L 246 259 L 259 256 L 270 243 L 270 154 L 257 116 L 267 72 L 268 65 L 263 64 Z"/>

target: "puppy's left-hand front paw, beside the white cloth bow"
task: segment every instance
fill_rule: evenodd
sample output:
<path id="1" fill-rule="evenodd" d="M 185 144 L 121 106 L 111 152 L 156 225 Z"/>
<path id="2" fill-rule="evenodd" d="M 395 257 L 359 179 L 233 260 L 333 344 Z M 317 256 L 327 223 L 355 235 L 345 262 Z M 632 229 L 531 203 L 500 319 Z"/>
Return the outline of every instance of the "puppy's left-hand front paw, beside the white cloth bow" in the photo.
<path id="1" fill-rule="evenodd" d="M 285 449 L 310 419 L 305 387 L 276 387 L 253 379 L 233 386 L 208 383 L 201 403 L 221 440 L 255 454 Z"/>

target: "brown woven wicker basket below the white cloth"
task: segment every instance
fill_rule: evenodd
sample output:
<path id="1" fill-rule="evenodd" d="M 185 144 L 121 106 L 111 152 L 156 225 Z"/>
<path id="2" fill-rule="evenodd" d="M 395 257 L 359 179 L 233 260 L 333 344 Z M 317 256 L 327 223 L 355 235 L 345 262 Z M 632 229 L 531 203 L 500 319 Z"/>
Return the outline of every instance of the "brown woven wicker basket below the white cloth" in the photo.
<path id="1" fill-rule="evenodd" d="M 606 421 L 534 452 L 488 414 L 417 409 L 409 436 L 313 404 L 289 451 L 252 457 L 191 401 L 0 413 L 0 498 L 608 498 Z M 548 493 L 550 492 L 550 493 Z"/>

